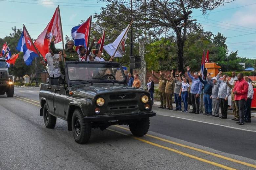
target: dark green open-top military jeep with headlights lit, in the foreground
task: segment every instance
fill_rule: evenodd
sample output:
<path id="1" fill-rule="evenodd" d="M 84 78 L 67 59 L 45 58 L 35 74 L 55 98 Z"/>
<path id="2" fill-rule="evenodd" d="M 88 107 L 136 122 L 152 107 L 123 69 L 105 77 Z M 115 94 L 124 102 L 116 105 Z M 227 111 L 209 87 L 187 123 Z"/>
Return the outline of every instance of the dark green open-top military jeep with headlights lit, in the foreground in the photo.
<path id="1" fill-rule="evenodd" d="M 88 142 L 91 129 L 129 125 L 135 136 L 149 129 L 150 94 L 127 86 L 124 71 L 115 62 L 66 62 L 60 86 L 41 84 L 40 116 L 54 128 L 56 117 L 67 121 L 77 143 Z"/>

